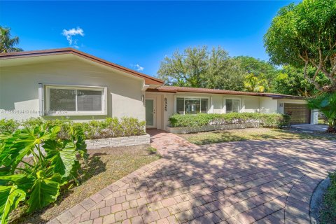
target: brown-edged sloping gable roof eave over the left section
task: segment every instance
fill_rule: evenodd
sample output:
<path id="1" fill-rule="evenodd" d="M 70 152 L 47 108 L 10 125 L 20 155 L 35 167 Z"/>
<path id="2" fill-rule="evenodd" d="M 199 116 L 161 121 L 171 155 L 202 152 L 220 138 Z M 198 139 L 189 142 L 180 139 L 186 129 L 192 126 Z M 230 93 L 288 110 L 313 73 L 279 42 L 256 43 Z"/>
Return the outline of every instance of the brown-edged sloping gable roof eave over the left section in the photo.
<path id="1" fill-rule="evenodd" d="M 154 78 L 152 76 L 148 76 L 144 73 L 140 73 L 138 71 L 134 71 L 132 69 L 127 69 L 124 66 L 120 66 L 118 64 L 114 64 L 108 62 L 102 58 L 94 57 L 93 55 L 89 55 L 80 50 L 76 50 L 73 48 L 59 48 L 59 49 L 50 49 L 50 50 L 31 50 L 31 51 L 20 51 L 20 52 L 8 52 L 8 53 L 0 53 L 0 59 L 12 59 L 12 58 L 20 58 L 20 57 L 38 57 L 38 56 L 46 56 L 46 55 L 63 55 L 63 54 L 72 54 L 78 57 L 83 57 L 85 59 L 89 59 L 92 62 L 97 62 L 99 64 L 103 64 L 105 66 L 109 66 L 113 69 L 117 69 L 119 71 L 123 71 L 126 73 L 130 73 L 133 76 L 137 76 L 140 78 L 144 78 L 145 83 L 147 85 L 162 85 L 164 83 L 163 80 L 158 78 Z"/>

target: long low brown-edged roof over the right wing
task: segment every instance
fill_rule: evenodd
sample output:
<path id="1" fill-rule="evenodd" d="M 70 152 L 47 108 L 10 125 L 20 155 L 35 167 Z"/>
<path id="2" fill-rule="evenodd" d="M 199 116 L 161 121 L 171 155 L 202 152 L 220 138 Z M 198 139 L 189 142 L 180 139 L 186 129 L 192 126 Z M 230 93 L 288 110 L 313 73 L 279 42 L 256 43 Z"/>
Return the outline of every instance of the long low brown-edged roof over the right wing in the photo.
<path id="1" fill-rule="evenodd" d="M 257 96 L 257 97 L 271 97 L 273 99 L 305 99 L 305 97 L 291 96 L 286 94 L 276 94 L 267 92 L 242 92 L 233 90 L 214 90 L 195 87 L 179 87 L 179 86 L 160 86 L 156 89 L 148 89 L 147 92 L 197 92 L 208 94 L 230 94 L 230 95 L 244 95 L 244 96 Z"/>

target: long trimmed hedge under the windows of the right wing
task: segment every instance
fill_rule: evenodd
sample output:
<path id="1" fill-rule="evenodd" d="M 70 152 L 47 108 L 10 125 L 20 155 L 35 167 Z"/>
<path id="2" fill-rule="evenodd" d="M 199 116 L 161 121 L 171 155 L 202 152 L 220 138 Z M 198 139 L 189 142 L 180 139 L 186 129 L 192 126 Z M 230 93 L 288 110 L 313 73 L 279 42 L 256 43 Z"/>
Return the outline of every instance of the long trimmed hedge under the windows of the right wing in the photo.
<path id="1" fill-rule="evenodd" d="M 174 114 L 169 118 L 171 127 L 200 127 L 204 125 L 229 125 L 260 123 L 261 127 L 288 125 L 290 116 L 279 113 L 198 113 Z"/>

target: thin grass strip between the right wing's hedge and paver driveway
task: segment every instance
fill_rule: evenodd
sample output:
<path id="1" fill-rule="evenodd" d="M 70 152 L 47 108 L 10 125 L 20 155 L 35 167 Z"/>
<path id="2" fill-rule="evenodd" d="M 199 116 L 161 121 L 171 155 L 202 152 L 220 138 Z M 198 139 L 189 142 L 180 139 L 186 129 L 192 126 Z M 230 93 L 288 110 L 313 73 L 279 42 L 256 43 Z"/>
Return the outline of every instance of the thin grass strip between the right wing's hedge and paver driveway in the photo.
<path id="1" fill-rule="evenodd" d="M 180 134 L 196 145 L 214 144 L 228 141 L 267 140 L 267 139 L 325 139 L 336 140 L 336 134 L 324 132 L 306 133 L 302 131 L 280 130 L 269 128 L 246 128 L 241 130 L 221 130 L 214 132 L 198 132 Z"/>

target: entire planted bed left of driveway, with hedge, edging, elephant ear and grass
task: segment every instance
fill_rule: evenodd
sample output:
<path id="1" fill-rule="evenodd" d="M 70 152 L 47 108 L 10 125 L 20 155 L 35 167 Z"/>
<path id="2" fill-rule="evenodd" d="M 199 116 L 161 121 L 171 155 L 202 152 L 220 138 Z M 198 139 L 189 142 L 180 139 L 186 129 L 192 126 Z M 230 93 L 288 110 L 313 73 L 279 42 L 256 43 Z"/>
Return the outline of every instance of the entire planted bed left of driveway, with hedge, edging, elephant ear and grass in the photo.
<path id="1" fill-rule="evenodd" d="M 0 120 L 0 222 L 6 224 L 10 218 L 13 223 L 46 223 L 157 160 L 159 156 L 148 144 L 138 150 L 132 146 L 99 149 L 111 142 L 148 143 L 144 125 L 135 118 L 88 123 Z M 87 151 L 90 146 L 85 141 L 94 146 L 92 151 Z"/>

